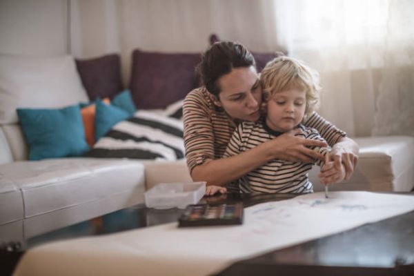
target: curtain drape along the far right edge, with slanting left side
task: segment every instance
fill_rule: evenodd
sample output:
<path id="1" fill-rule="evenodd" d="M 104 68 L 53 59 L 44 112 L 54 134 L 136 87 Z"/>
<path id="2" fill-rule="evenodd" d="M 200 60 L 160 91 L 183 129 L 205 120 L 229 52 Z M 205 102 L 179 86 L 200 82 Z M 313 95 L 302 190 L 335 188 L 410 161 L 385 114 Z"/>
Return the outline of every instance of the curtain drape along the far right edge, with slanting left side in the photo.
<path id="1" fill-rule="evenodd" d="M 414 136 L 414 1 L 391 1 L 373 135 Z"/>

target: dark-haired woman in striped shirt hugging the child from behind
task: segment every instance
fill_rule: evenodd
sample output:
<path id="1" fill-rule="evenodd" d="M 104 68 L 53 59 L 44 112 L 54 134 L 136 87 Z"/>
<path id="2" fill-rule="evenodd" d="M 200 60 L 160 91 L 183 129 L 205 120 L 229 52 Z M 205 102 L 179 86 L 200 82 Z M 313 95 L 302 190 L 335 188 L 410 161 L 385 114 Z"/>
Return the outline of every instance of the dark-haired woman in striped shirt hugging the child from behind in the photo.
<path id="1" fill-rule="evenodd" d="M 201 57 L 199 72 L 205 86 L 188 93 L 184 101 L 184 144 L 194 181 L 224 186 L 273 159 L 313 162 L 322 155 L 306 148 L 326 146 L 322 141 L 295 137 L 295 131 L 267 141 L 233 157 L 222 158 L 240 121 L 260 117 L 262 88 L 255 60 L 239 43 L 213 44 Z M 358 146 L 345 132 L 314 113 L 304 125 L 316 128 L 333 148 L 335 166 L 344 164 L 349 179 L 357 164 Z M 333 182 L 334 170 L 321 171 L 322 182 Z"/>

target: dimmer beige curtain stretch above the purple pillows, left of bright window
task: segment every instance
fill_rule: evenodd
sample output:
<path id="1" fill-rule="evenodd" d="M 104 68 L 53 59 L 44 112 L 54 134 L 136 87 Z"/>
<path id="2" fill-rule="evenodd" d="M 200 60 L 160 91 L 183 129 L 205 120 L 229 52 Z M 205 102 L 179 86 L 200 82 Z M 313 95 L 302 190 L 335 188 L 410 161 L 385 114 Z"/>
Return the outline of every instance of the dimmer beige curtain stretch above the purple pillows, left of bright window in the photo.
<path id="1" fill-rule="evenodd" d="M 203 52 L 210 34 L 255 51 L 275 50 L 271 1 L 70 0 L 71 48 L 75 57 L 121 54 L 128 83 L 132 50 Z M 279 46 L 276 46 L 280 50 Z"/>

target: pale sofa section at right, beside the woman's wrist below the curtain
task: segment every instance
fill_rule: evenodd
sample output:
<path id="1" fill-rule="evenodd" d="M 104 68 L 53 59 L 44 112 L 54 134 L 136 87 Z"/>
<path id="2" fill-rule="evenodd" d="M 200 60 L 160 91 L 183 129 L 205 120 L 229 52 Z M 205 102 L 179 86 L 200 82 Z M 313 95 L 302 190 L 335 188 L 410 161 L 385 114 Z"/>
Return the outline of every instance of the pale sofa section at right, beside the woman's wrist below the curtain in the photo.
<path id="1" fill-rule="evenodd" d="M 330 190 L 369 190 L 377 192 L 409 192 L 414 188 L 414 137 L 384 136 L 355 138 L 359 144 L 359 160 L 348 181 Z M 315 192 L 322 191 L 313 166 L 309 179 Z"/>

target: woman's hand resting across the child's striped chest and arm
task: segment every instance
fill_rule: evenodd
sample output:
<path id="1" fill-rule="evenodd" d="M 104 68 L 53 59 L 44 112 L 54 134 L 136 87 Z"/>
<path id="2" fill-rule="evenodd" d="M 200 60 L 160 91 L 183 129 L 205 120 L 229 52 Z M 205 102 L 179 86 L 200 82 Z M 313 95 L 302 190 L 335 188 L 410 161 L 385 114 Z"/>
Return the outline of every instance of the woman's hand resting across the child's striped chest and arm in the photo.
<path id="1" fill-rule="evenodd" d="M 324 141 L 313 139 L 304 139 L 295 137 L 301 130 L 291 130 L 279 137 L 267 141 L 269 146 L 270 159 L 283 159 L 293 162 L 313 163 L 315 159 L 324 159 L 324 155 L 307 147 L 326 147 L 328 144 Z"/>

